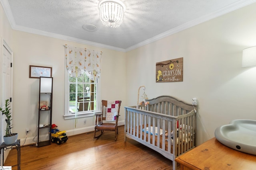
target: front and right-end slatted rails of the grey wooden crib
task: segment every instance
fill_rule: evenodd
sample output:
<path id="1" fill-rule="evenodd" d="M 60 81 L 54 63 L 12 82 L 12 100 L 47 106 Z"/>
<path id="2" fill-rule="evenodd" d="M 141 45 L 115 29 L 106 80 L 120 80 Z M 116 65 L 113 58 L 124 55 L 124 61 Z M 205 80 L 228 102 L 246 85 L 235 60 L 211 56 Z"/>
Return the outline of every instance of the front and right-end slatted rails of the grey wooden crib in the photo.
<path id="1" fill-rule="evenodd" d="M 167 158 L 170 158 L 170 153 L 179 156 L 190 150 L 192 147 L 195 147 L 194 116 L 194 110 L 186 115 L 170 116 L 136 109 L 134 107 L 125 107 L 125 141 L 126 137 L 132 139 L 138 138 L 140 139 L 140 142 L 146 145 L 148 143 L 152 144 L 153 147 L 156 147 L 157 151 L 161 152 L 164 156 L 166 156 L 165 153 L 168 152 L 168 155 L 166 156 Z M 161 141 L 160 135 L 151 135 L 150 133 L 147 133 L 145 130 L 147 127 L 152 127 L 152 134 L 162 135 L 163 137 Z M 180 131 L 176 131 L 176 129 L 180 129 Z M 170 132 L 172 132 L 173 140 L 171 140 Z M 182 135 L 178 134 L 178 132 L 186 132 L 192 135 Z M 168 134 L 167 138 L 164 138 L 165 133 Z M 180 138 L 180 141 L 186 141 L 186 143 L 183 146 L 178 145 L 177 137 Z M 168 148 L 166 148 L 166 144 Z M 178 145 L 177 150 L 172 151 L 171 145 Z M 152 148 L 151 145 L 148 147 Z M 159 148 L 161 150 L 158 150 Z"/>

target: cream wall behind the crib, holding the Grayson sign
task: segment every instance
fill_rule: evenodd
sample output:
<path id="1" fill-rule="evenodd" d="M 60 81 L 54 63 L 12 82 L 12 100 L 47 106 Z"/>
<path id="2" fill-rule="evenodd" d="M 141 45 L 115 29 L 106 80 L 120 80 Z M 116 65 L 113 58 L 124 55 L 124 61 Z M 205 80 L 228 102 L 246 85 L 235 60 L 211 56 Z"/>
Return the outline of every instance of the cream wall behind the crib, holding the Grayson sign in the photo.
<path id="1" fill-rule="evenodd" d="M 256 68 L 242 68 L 242 50 L 256 45 L 256 3 L 126 53 L 127 105 L 138 87 L 149 98 L 198 99 L 197 144 L 233 119 L 256 119 Z M 183 57 L 183 82 L 156 83 L 156 63 Z"/>

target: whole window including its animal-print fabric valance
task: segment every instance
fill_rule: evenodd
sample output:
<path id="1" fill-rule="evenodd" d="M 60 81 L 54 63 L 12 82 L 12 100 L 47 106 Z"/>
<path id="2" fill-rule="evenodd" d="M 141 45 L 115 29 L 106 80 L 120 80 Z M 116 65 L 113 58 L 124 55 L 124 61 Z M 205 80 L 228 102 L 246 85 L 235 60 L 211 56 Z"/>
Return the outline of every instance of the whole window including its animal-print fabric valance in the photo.
<path id="1" fill-rule="evenodd" d="M 98 110 L 98 77 L 102 52 L 64 45 L 64 119 L 93 116 Z"/>

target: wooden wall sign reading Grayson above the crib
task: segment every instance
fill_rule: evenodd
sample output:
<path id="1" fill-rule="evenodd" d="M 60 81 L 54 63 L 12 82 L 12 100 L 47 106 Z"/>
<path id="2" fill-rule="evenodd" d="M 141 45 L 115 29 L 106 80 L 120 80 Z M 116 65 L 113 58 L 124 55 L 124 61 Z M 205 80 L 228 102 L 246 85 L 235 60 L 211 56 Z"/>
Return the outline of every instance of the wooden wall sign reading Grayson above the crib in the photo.
<path id="1" fill-rule="evenodd" d="M 183 57 L 156 63 L 156 82 L 183 82 Z"/>

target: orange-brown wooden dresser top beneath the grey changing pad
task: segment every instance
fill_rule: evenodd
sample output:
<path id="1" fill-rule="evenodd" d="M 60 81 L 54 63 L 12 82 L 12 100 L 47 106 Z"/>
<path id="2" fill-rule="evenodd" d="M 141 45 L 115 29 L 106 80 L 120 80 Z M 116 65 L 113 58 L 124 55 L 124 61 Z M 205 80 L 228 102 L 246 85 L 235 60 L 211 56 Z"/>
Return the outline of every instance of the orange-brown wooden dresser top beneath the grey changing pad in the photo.
<path id="1" fill-rule="evenodd" d="M 175 159 L 180 170 L 253 170 L 256 155 L 226 147 L 216 138 L 182 154 Z"/>

